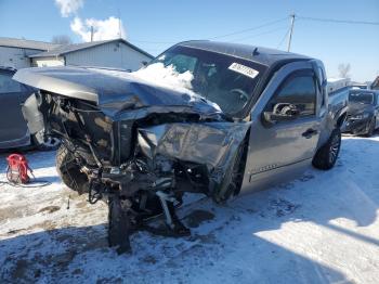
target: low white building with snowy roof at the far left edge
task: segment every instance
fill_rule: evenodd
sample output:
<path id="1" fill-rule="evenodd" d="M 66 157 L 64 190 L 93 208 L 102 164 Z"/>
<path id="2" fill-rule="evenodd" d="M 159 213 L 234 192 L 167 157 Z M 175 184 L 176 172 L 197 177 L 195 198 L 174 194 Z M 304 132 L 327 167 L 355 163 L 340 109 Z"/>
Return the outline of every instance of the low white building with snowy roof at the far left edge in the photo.
<path id="1" fill-rule="evenodd" d="M 29 55 L 49 51 L 60 47 L 50 42 L 0 38 L 0 66 L 25 68 L 30 67 Z"/>

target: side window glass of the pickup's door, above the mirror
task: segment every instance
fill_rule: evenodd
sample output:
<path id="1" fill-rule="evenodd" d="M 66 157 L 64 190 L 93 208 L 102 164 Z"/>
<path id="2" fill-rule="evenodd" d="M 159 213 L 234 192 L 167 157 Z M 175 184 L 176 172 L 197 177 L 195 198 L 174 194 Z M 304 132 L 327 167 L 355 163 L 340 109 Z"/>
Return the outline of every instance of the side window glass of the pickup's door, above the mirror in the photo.
<path id="1" fill-rule="evenodd" d="M 276 104 L 286 103 L 295 105 L 300 116 L 315 115 L 316 98 L 316 86 L 312 75 L 290 76 L 270 102 L 269 109 L 273 112 Z"/>

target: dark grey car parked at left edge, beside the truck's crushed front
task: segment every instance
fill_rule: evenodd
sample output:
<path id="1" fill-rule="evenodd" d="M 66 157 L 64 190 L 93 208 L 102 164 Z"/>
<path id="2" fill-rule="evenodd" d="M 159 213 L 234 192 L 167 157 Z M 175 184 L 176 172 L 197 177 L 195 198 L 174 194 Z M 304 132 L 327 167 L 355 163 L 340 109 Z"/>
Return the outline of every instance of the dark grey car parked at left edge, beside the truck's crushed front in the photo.
<path id="1" fill-rule="evenodd" d="M 23 147 L 34 144 L 24 116 L 22 104 L 36 89 L 12 79 L 16 69 L 0 67 L 0 150 Z M 38 147 L 56 147 L 58 140 L 50 138 Z"/>

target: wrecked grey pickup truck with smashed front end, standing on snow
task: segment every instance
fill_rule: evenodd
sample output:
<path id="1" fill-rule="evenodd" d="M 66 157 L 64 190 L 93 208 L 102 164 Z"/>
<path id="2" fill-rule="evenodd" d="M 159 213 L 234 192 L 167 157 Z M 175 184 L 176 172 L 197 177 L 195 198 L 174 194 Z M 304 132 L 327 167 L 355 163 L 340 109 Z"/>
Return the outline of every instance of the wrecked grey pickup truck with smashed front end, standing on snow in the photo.
<path id="1" fill-rule="evenodd" d="M 29 130 L 62 140 L 68 188 L 108 203 L 119 253 L 160 214 L 169 235 L 190 234 L 175 215 L 185 192 L 223 203 L 311 163 L 330 169 L 345 117 L 329 111 L 321 61 L 232 43 L 182 42 L 131 74 L 27 68 L 14 79 L 40 90 L 23 107 Z"/>

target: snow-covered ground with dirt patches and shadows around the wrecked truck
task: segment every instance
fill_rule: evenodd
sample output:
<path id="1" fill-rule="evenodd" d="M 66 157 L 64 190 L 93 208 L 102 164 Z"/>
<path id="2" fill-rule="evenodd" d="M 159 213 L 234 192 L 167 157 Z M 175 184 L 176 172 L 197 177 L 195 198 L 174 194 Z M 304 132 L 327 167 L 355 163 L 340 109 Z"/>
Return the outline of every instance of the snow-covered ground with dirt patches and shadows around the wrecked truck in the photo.
<path id="1" fill-rule="evenodd" d="M 121 256 L 107 247 L 106 206 L 65 189 L 54 153 L 27 156 L 52 184 L 0 185 L 0 283 L 379 282 L 379 137 L 345 137 L 330 171 L 227 206 L 192 201 L 179 210 L 192 236 L 140 232 Z"/>

